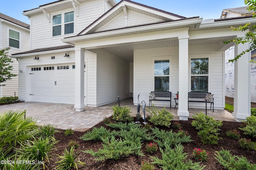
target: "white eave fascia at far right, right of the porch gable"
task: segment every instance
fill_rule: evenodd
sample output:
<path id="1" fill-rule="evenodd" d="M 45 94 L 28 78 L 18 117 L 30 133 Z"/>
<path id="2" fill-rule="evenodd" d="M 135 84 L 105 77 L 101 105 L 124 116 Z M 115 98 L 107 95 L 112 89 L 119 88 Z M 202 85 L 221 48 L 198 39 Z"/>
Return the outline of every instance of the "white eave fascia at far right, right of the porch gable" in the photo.
<path id="1" fill-rule="evenodd" d="M 212 23 L 202 23 L 199 28 L 208 27 L 220 27 L 220 26 L 232 26 L 232 25 L 244 25 L 245 23 L 256 23 L 255 18 L 245 18 L 238 20 L 226 20 L 226 21 L 216 21 Z"/>

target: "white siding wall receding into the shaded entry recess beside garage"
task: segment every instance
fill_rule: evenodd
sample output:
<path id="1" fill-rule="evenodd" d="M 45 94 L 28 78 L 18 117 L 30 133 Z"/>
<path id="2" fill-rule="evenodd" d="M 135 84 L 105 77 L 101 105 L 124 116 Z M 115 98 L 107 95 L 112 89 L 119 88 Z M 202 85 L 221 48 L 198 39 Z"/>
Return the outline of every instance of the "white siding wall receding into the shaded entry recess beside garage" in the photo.
<path id="1" fill-rule="evenodd" d="M 130 63 L 97 49 L 97 106 L 129 97 Z"/>

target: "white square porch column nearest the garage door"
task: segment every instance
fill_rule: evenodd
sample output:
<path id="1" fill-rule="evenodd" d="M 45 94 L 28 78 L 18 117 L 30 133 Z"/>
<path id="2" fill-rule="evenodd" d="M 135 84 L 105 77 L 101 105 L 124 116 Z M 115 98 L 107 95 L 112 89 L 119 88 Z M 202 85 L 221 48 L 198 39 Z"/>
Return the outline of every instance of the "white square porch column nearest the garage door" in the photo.
<path id="1" fill-rule="evenodd" d="M 75 106 L 76 111 L 84 110 L 84 50 L 75 50 Z"/>

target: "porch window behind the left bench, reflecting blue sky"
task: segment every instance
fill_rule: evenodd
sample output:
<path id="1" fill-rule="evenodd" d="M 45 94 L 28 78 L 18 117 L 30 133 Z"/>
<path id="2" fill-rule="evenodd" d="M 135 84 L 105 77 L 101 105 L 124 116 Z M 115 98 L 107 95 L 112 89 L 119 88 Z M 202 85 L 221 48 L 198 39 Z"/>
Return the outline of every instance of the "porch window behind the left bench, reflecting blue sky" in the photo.
<path id="1" fill-rule="evenodd" d="M 169 91 L 170 87 L 170 61 L 154 61 L 154 90 Z"/>

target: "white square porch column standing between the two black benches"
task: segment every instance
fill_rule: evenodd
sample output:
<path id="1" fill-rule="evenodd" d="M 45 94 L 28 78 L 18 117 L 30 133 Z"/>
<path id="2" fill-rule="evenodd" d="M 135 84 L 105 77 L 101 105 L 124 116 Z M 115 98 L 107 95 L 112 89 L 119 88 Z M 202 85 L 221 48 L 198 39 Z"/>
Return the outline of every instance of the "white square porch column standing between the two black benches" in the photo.
<path id="1" fill-rule="evenodd" d="M 188 35 L 179 37 L 179 107 L 180 120 L 188 120 Z"/>

